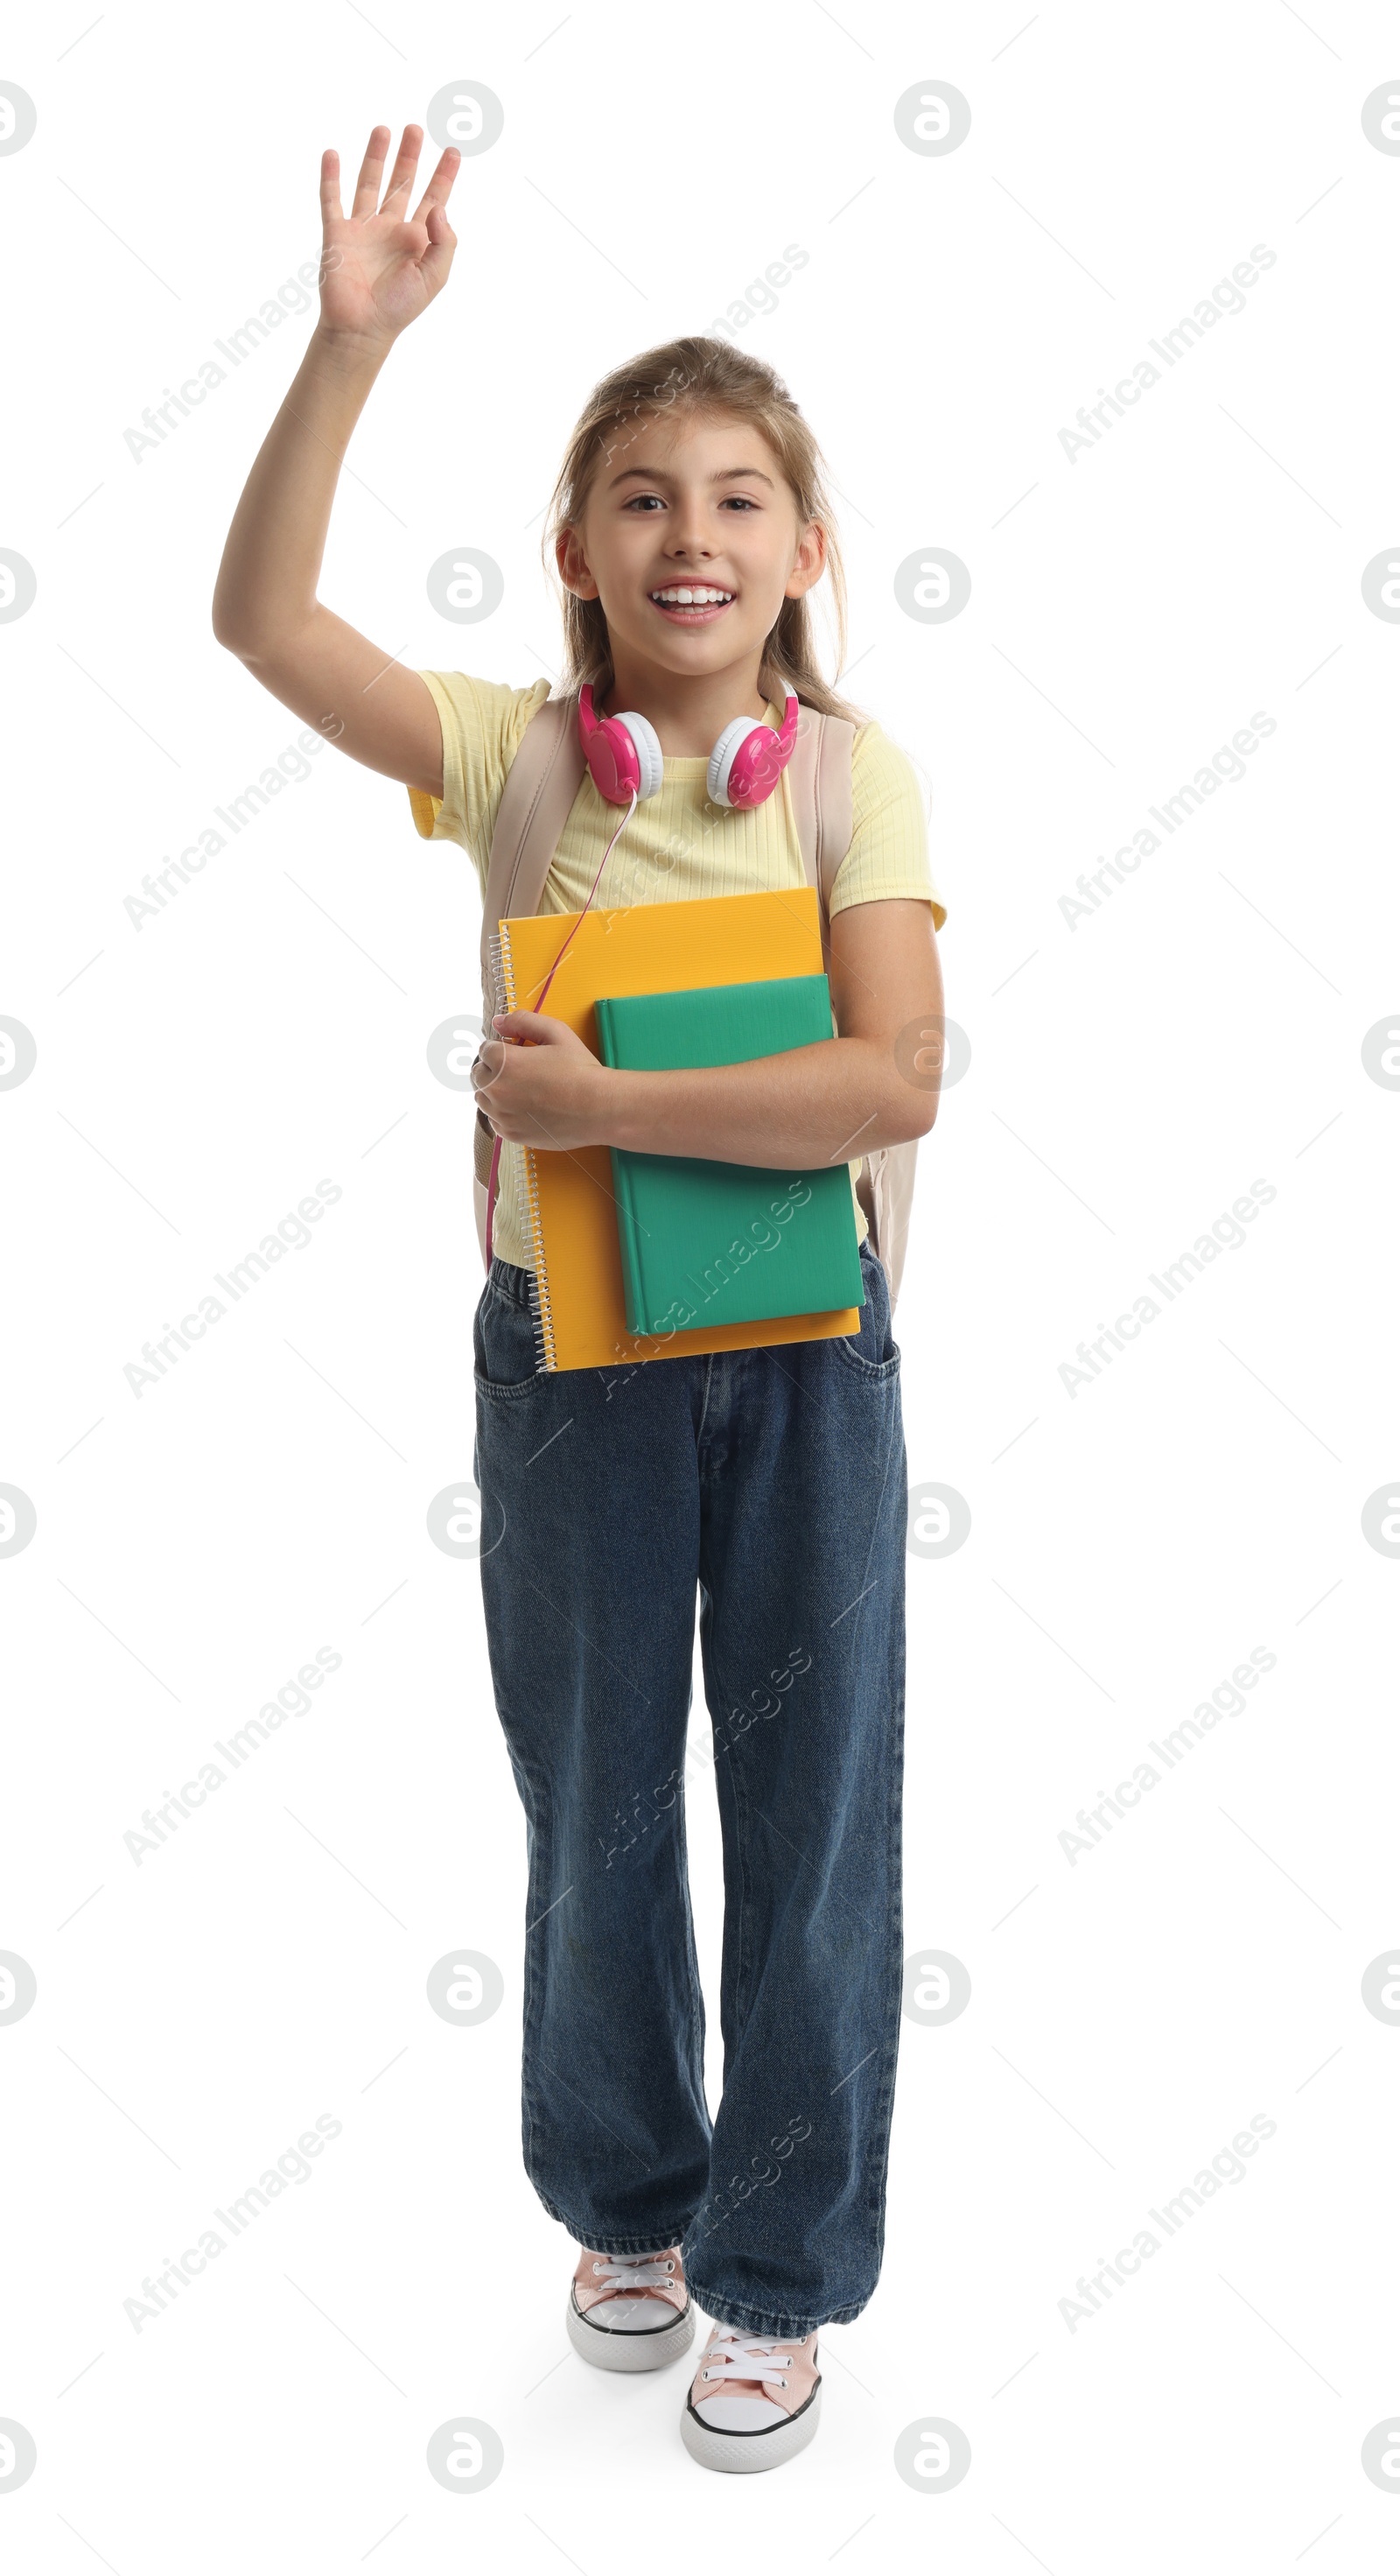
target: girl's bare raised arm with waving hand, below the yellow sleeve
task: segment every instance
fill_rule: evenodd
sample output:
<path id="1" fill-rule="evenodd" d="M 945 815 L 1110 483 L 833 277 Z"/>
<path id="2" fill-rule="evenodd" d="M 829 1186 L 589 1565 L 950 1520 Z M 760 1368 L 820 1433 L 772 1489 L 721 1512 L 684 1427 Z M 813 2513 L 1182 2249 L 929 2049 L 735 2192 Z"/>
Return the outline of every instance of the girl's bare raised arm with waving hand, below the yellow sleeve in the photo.
<path id="1" fill-rule="evenodd" d="M 378 204 L 389 126 L 376 126 L 355 204 L 340 211 L 340 155 L 322 155 L 322 319 L 242 489 L 214 585 L 214 634 L 262 688 L 342 752 L 443 793 L 438 708 L 417 677 L 317 598 L 329 505 L 350 433 L 394 340 L 445 286 L 456 232 L 445 204 L 461 155 L 407 201 L 422 126 L 404 126 Z"/>

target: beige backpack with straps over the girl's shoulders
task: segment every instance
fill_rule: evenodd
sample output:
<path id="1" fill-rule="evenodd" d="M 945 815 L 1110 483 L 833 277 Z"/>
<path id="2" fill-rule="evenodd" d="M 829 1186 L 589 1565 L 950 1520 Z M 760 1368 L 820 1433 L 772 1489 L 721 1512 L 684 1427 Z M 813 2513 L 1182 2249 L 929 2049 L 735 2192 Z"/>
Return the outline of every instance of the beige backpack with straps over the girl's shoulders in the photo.
<path id="1" fill-rule="evenodd" d="M 803 845 L 808 884 L 816 886 L 821 907 L 821 953 L 829 953 L 826 902 L 852 845 L 852 742 L 854 724 L 842 716 L 818 716 L 803 706 L 798 742 L 788 762 L 793 791 L 793 817 Z M 502 1005 L 494 997 L 492 938 L 502 920 L 540 909 L 546 876 L 558 848 L 558 835 L 569 822 L 574 796 L 584 781 L 584 752 L 579 744 L 579 701 L 546 698 L 510 765 L 492 858 L 486 868 L 486 899 L 481 909 L 481 1025 L 489 1033 L 492 1012 Z M 486 1182 L 492 1172 L 494 1128 L 484 1110 L 476 1110 L 474 1149 L 474 1200 L 476 1236 L 486 1260 Z M 870 1247 L 880 1255 L 890 1283 L 890 1314 L 898 1301 L 903 1275 L 903 1247 L 914 1208 L 914 1164 L 919 1139 L 885 1144 L 865 1154 L 857 1175 L 857 1198 L 870 1224 Z M 499 1170 L 497 1170 L 499 1190 Z"/>

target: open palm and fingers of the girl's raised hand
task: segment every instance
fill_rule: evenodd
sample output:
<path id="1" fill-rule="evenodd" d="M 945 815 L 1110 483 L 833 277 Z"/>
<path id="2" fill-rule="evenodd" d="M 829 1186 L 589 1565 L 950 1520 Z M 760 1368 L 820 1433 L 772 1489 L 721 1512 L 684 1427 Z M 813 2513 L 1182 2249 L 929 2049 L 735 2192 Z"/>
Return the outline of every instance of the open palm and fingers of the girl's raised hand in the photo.
<path id="1" fill-rule="evenodd" d="M 394 340 L 445 286 L 458 237 L 445 204 L 461 152 L 448 147 L 409 214 L 422 126 L 404 126 L 378 204 L 389 126 L 376 126 L 350 214 L 340 211 L 340 152 L 322 152 L 322 327 L 353 340 Z"/>

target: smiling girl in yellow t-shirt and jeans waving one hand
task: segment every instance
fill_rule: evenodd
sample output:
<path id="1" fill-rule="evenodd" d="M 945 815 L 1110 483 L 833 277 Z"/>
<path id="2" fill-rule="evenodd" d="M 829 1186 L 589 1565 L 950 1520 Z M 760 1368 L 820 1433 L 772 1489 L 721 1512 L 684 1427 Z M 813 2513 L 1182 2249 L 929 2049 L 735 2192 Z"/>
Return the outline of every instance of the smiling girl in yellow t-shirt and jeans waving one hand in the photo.
<path id="1" fill-rule="evenodd" d="M 381 201 L 376 126 L 350 216 L 322 160 L 322 319 L 242 492 L 214 631 L 340 750 L 404 781 L 417 829 L 486 873 L 510 762 L 548 680 L 401 670 L 317 598 L 340 459 L 399 332 L 445 286 L 443 152 L 422 129 Z M 762 361 L 677 340 L 605 379 L 574 433 L 548 544 L 566 696 L 654 732 L 643 801 L 584 775 L 540 909 L 806 884 L 788 781 L 715 801 L 726 726 L 818 677 L 806 598 L 842 574 L 818 453 Z M 569 711 L 571 714 L 571 711 Z M 636 724 L 633 716 L 633 724 Z M 744 724 L 739 724 L 744 719 Z M 646 737 L 646 726 L 638 726 Z M 474 1084 L 502 1139 L 474 1316 L 481 1558 L 499 1721 L 528 1819 L 525 2166 L 579 2244 L 566 2324 L 605 2370 L 651 2370 L 715 2321 L 682 2409 L 708 2468 L 811 2442 L 818 2329 L 865 2308 L 883 2251 L 901 2017 L 906 1453 L 890 1293 L 854 1188 L 865 1306 L 834 1340 L 535 1365 L 522 1149 L 633 1146 L 800 1175 L 901 1144 L 934 1100 L 896 1041 L 942 1010 L 914 773 L 875 724 L 852 755 L 852 842 L 829 902 L 839 1036 L 751 1064 L 618 1072 L 561 1020 L 497 1015 Z M 530 1043 L 520 1043 L 530 1041 Z M 695 1597 L 723 1829 L 723 2099 L 685 1870 Z"/>

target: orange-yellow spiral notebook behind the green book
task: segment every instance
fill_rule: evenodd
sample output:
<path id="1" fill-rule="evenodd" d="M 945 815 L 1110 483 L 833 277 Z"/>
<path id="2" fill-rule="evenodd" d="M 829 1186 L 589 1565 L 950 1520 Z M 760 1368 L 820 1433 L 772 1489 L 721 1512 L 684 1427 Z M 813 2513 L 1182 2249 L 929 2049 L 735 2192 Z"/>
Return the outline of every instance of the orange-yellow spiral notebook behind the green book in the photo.
<path id="1" fill-rule="evenodd" d="M 569 948 L 540 1002 L 538 994 L 564 940 Z M 703 984 L 821 974 L 816 886 L 623 904 L 615 912 L 517 914 L 499 925 L 492 963 L 499 1010 L 543 1010 L 551 1020 L 564 1020 L 602 1059 L 594 1012 L 600 994 L 692 992 Z M 757 1324 L 692 1324 L 669 1334 L 628 1332 L 610 1149 L 594 1144 L 551 1154 L 525 1146 L 525 1193 L 540 1368 L 618 1368 L 860 1332 L 860 1306 L 769 1316 Z"/>

